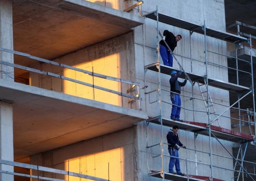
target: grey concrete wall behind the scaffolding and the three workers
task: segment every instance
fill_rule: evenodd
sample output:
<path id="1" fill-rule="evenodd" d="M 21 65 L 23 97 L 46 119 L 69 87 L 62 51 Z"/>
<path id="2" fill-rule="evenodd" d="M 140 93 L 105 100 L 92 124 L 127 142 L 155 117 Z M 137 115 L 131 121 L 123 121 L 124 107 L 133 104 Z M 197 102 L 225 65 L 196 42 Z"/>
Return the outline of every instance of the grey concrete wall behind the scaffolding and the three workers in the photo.
<path id="1" fill-rule="evenodd" d="M 143 4 L 143 13 L 151 12 L 156 10 L 156 5 L 158 6 L 158 12 L 162 14 L 166 14 L 175 18 L 180 18 L 185 21 L 189 21 L 195 23 L 197 25 L 204 25 L 204 20 L 207 26 L 212 29 L 217 29 L 220 31 L 225 31 L 225 11 L 224 11 L 224 0 L 214 1 L 170 1 L 163 0 L 161 2 L 149 0 Z M 136 65 L 136 78 L 137 81 L 140 81 L 142 84 L 144 83 L 144 69 L 145 65 L 157 62 L 157 54 L 156 54 L 156 21 L 147 19 L 145 20 L 145 25 L 135 28 L 135 65 Z M 183 68 L 188 72 L 193 72 L 199 75 L 205 75 L 205 54 L 204 54 L 204 35 L 193 33 L 191 40 L 191 56 L 192 61 L 190 60 L 190 39 L 189 39 L 189 31 L 180 29 L 178 27 L 166 25 L 163 23 L 159 23 L 159 29 L 163 32 L 165 29 L 174 33 L 174 35 L 181 34 L 182 40 L 178 42 L 177 47 L 174 50 L 174 53 L 178 59 L 178 61 L 182 64 Z M 213 52 L 217 52 L 220 54 L 226 54 L 226 42 L 217 40 L 211 37 L 207 37 L 207 49 Z M 160 57 L 160 62 L 162 59 Z M 227 66 L 227 59 L 223 56 L 219 56 L 216 54 L 209 53 L 208 54 L 208 62 L 217 63 L 223 66 Z M 178 64 L 173 63 L 174 68 L 179 68 Z M 210 78 L 219 79 L 225 82 L 228 82 L 228 70 L 226 68 L 216 66 L 216 65 L 208 65 L 208 76 Z M 161 75 L 161 83 L 162 89 L 170 90 L 169 84 L 170 76 Z M 180 81 L 183 81 L 180 79 Z M 145 86 L 148 86 L 145 89 L 145 92 L 153 91 L 158 88 L 158 73 L 148 70 L 146 73 L 146 82 Z M 181 89 L 181 94 L 193 96 L 196 98 L 202 98 L 199 92 L 198 85 L 194 85 L 192 92 L 192 85 L 188 82 L 185 87 Z M 171 103 L 170 101 L 170 93 L 168 91 L 162 90 L 161 98 L 162 100 Z M 229 93 L 228 91 L 224 91 L 221 89 L 209 87 L 210 94 L 213 98 L 214 102 L 221 103 L 223 105 L 229 105 Z M 193 94 L 192 94 L 193 93 Z M 154 100 L 159 100 L 156 96 L 157 93 L 154 92 L 152 94 L 147 94 L 141 101 L 141 105 L 144 110 L 148 112 L 148 116 L 155 117 L 160 114 L 159 112 L 159 103 L 156 101 L 153 104 L 149 104 L 149 100 L 153 102 Z M 200 111 L 206 111 L 204 103 L 202 100 L 190 100 L 189 98 L 182 97 L 182 106 L 187 109 L 194 109 Z M 170 118 L 172 105 L 162 102 L 162 115 L 164 118 Z M 220 114 L 225 110 L 226 106 L 215 106 L 217 114 Z M 182 109 L 181 111 L 181 119 L 195 121 L 195 122 L 203 122 L 208 123 L 208 116 L 203 112 L 192 112 L 189 110 Z M 223 114 L 224 116 L 230 116 L 230 112 L 226 112 Z M 213 125 L 218 125 L 217 122 L 214 122 Z M 220 118 L 220 126 L 230 129 L 230 119 L 228 118 Z M 147 135 L 146 130 L 147 129 Z M 169 127 L 163 128 L 163 138 L 166 143 L 166 134 L 170 130 Z M 198 135 L 196 139 L 194 139 L 194 134 L 192 132 L 187 132 L 180 130 L 180 140 L 183 144 L 185 144 L 188 148 L 209 152 L 209 137 Z M 152 158 L 150 156 L 150 150 L 146 149 L 146 146 L 154 145 L 160 143 L 161 141 L 161 129 L 160 126 L 149 124 L 145 125 L 141 123 L 137 127 L 137 135 L 138 135 L 138 165 L 140 172 L 136 175 L 138 180 L 146 180 L 147 173 L 149 170 L 161 170 L 161 158 L 156 157 Z M 145 139 L 147 137 L 147 139 Z M 147 142 L 145 141 L 147 140 Z M 221 141 L 226 148 L 232 152 L 232 143 L 229 141 Z M 156 146 L 157 147 L 157 146 Z M 153 152 L 159 154 L 161 151 L 160 148 L 154 148 Z M 222 156 L 228 156 L 228 153 L 224 148 L 214 139 L 212 139 L 212 153 L 219 154 Z M 164 146 L 164 154 L 169 155 L 167 146 Z M 189 160 L 196 160 L 195 152 L 189 150 L 180 150 L 180 157 L 187 158 Z M 146 158 L 149 158 L 148 164 L 145 163 Z M 222 157 L 213 156 L 213 165 L 224 167 L 227 169 L 232 169 L 233 161 L 231 159 L 223 159 Z M 210 157 L 208 154 L 203 154 L 197 152 L 197 161 L 202 163 L 210 163 Z M 164 157 L 164 169 L 168 171 L 168 163 L 169 157 Z M 186 172 L 185 163 L 181 161 L 182 171 Z M 210 168 L 209 166 L 205 166 L 202 164 L 197 165 L 198 173 L 197 175 L 202 176 L 210 176 Z M 195 163 L 188 163 L 188 174 L 196 174 L 196 166 Z M 227 171 L 225 169 L 218 169 L 216 167 L 213 168 L 213 177 L 227 180 L 231 179 L 232 172 Z M 154 180 L 154 178 L 150 178 Z"/>

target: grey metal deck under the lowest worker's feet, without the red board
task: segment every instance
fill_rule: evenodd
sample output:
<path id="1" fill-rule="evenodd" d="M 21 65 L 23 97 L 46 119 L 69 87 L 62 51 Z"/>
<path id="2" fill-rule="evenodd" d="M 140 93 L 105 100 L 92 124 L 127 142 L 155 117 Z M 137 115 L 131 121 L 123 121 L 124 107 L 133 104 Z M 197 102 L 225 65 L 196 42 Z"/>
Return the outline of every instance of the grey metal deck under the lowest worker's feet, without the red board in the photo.
<path id="1" fill-rule="evenodd" d="M 163 171 L 152 172 L 152 173 L 149 173 L 148 176 L 163 178 Z M 164 179 L 175 180 L 175 181 L 187 181 L 188 177 L 164 172 Z M 197 179 L 197 178 L 193 178 L 193 177 L 189 177 L 189 180 L 190 181 L 202 181 L 202 179 Z"/>

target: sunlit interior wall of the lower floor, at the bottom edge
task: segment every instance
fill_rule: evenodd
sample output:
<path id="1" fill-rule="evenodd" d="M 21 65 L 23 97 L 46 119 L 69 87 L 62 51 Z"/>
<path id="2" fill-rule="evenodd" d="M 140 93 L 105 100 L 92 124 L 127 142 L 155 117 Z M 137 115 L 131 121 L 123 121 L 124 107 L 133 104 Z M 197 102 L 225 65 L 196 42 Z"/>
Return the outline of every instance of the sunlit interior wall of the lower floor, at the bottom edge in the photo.
<path id="1" fill-rule="evenodd" d="M 134 140 L 135 127 L 131 127 L 31 156 L 31 164 L 38 162 L 41 166 L 69 170 L 104 179 L 109 178 L 113 181 L 132 181 L 134 153 L 136 151 Z M 37 175 L 37 170 L 32 170 L 32 174 Z M 70 181 L 80 180 L 78 177 L 69 176 L 68 179 L 68 176 L 49 172 L 39 172 L 39 175 Z"/>

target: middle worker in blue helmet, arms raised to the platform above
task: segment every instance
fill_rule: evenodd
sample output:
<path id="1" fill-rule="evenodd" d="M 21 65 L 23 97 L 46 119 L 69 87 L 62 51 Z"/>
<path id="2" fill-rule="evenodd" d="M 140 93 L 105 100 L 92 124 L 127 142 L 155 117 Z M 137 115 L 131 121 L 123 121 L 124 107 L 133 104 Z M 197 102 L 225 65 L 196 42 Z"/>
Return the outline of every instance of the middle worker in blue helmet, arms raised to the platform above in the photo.
<path id="1" fill-rule="evenodd" d="M 171 92 L 171 101 L 172 101 L 172 113 L 171 113 L 171 119 L 175 121 L 183 121 L 180 119 L 180 106 L 181 106 L 181 99 L 180 99 L 180 89 L 182 86 L 185 86 L 187 83 L 187 77 L 185 78 L 184 82 L 179 82 L 178 77 L 181 75 L 181 70 L 177 74 L 175 70 L 172 70 L 171 72 L 171 78 L 170 78 L 170 87 L 172 92 L 176 92 L 178 94 Z"/>

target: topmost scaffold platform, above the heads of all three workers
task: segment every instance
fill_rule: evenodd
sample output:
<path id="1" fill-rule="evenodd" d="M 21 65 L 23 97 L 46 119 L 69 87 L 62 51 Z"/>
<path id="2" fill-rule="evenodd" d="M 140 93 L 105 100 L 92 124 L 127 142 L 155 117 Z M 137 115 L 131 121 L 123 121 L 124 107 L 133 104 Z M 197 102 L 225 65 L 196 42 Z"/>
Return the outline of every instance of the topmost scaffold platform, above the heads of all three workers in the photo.
<path id="1" fill-rule="evenodd" d="M 147 18 L 156 20 L 156 11 L 153 11 L 151 13 L 148 13 L 146 15 L 144 15 Z M 158 21 L 165 23 L 167 25 L 172 25 L 172 26 L 176 26 L 182 29 L 186 29 L 189 31 L 193 31 L 196 33 L 200 33 L 200 34 L 204 34 L 204 30 L 202 29 L 203 26 L 199 26 L 199 25 L 195 25 L 193 23 L 190 23 L 188 21 L 184 21 L 178 18 L 173 18 L 164 14 L 160 14 L 158 13 Z M 206 28 L 206 35 L 213 37 L 213 38 L 217 38 L 220 40 L 224 40 L 224 41 L 228 41 L 228 42 L 242 42 L 242 41 L 246 41 L 247 39 L 241 36 L 237 36 L 235 34 L 231 34 L 231 33 L 227 33 L 227 32 L 221 32 L 221 31 L 217 31 L 214 29 L 210 29 L 210 28 Z"/>

